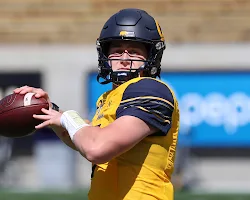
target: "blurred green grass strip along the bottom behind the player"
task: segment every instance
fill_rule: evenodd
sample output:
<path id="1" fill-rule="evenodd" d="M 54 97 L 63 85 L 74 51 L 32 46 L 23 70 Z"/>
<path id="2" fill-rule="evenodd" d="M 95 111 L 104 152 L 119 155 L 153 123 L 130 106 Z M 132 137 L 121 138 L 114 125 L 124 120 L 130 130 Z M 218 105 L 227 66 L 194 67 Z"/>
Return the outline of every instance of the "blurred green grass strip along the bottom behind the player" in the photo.
<path id="1" fill-rule="evenodd" d="M 87 192 L 77 191 L 73 193 L 18 193 L 1 191 L 0 200 L 87 200 Z M 250 194 L 176 193 L 175 200 L 250 200 Z"/>

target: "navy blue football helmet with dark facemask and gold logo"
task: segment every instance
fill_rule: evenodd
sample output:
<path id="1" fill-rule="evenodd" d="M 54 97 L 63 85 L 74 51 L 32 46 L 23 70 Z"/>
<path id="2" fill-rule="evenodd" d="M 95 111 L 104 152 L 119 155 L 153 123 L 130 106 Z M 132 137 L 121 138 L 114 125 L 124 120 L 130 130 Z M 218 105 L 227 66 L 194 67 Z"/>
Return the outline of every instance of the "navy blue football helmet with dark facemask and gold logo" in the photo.
<path id="1" fill-rule="evenodd" d="M 113 71 L 108 58 L 111 42 L 129 40 L 140 42 L 148 50 L 146 60 L 139 69 L 129 71 Z M 161 59 L 165 49 L 165 39 L 158 22 L 146 11 L 140 9 L 123 9 L 111 16 L 104 24 L 101 34 L 96 41 L 98 52 L 98 76 L 101 84 L 113 82 L 121 84 L 139 76 L 156 78 L 160 76 Z M 131 66 L 132 66 L 132 61 Z M 138 60 L 137 60 L 138 61 Z M 100 81 L 102 78 L 104 81 Z"/>

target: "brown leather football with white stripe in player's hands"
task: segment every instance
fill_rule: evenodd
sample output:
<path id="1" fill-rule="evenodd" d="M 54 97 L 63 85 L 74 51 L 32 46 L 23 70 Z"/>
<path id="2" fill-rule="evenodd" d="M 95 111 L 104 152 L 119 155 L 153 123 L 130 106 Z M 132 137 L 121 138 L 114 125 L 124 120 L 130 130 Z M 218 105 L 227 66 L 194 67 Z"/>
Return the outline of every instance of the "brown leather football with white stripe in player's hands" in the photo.
<path id="1" fill-rule="evenodd" d="M 41 121 L 33 114 L 43 114 L 41 109 L 49 108 L 45 98 L 36 98 L 34 93 L 10 94 L 0 101 L 0 135 L 24 137 L 35 131 Z"/>

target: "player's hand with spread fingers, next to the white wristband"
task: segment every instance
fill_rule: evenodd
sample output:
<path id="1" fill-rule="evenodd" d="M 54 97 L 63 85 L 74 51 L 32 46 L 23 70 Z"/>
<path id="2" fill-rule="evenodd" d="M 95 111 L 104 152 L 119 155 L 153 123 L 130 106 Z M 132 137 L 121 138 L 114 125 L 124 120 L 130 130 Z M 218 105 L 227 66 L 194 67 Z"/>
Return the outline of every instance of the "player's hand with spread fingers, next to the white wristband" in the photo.
<path id="1" fill-rule="evenodd" d="M 45 127 L 49 127 L 52 129 L 62 127 L 60 119 L 62 116 L 62 113 L 53 110 L 53 109 L 44 109 L 42 108 L 42 112 L 44 115 L 33 115 L 35 119 L 42 120 L 43 122 L 37 126 L 35 126 L 36 129 L 41 129 Z"/>

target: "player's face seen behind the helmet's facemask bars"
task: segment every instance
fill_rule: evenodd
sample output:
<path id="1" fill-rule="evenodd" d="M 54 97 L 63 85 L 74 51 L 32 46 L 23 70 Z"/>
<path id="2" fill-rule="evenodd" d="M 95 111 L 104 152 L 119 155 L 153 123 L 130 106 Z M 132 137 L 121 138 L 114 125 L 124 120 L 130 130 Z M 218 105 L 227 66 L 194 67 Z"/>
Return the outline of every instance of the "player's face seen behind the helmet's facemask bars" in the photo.
<path id="1" fill-rule="evenodd" d="M 138 69 L 147 58 L 145 45 L 133 41 L 114 41 L 109 48 L 109 59 L 113 71 L 126 71 Z M 133 60 L 133 61 L 131 61 Z"/>

